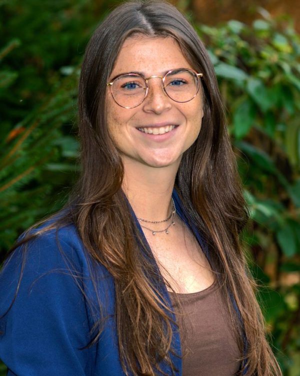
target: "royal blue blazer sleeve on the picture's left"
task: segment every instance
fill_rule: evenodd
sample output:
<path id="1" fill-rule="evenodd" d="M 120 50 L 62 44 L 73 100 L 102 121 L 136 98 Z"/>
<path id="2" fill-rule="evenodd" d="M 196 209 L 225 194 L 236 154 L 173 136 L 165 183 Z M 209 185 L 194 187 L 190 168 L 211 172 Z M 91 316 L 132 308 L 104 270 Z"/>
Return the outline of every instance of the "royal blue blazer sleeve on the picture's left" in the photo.
<path id="1" fill-rule="evenodd" d="M 84 348 L 90 325 L 82 255 L 63 230 L 26 247 L 16 249 L 0 273 L 0 359 L 8 375 L 92 374 L 92 351 Z"/>

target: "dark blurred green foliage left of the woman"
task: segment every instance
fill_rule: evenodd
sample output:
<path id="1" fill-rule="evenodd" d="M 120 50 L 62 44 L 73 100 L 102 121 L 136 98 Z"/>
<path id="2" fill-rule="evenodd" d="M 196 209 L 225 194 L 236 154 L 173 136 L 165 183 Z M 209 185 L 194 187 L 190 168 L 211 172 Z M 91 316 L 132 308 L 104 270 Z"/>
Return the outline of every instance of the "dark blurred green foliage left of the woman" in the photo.
<path id="1" fill-rule="evenodd" d="M 60 209 L 75 179 L 79 63 L 112 5 L 0 2 L 0 260 L 28 226 Z"/>

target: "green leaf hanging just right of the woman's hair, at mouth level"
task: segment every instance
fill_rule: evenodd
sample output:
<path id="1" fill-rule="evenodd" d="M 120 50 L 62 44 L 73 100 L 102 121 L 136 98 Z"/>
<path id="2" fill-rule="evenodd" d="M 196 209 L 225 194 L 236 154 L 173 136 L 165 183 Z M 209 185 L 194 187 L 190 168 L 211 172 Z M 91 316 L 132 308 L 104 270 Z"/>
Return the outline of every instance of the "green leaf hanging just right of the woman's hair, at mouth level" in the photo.
<path id="1" fill-rule="evenodd" d="M 233 113 L 233 132 L 237 139 L 244 137 L 255 120 L 256 112 L 252 101 L 244 99 Z"/>

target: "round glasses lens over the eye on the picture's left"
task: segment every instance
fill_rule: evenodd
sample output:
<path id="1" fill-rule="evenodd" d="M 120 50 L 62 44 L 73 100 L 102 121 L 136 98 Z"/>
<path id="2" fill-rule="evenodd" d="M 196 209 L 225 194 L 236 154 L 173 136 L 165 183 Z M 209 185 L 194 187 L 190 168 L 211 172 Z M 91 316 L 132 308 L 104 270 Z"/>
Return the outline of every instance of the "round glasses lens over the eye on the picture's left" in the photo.
<path id="1" fill-rule="evenodd" d="M 146 93 L 145 80 L 138 74 L 126 74 L 117 77 L 111 86 L 113 99 L 122 107 L 138 106 Z"/>

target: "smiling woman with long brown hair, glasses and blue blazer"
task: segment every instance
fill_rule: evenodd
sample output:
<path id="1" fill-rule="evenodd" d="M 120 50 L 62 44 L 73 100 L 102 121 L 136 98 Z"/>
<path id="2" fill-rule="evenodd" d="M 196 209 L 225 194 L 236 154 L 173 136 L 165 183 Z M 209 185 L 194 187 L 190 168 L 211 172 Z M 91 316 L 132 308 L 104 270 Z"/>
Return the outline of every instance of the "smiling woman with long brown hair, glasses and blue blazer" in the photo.
<path id="1" fill-rule="evenodd" d="M 79 84 L 82 173 L 1 274 L 17 375 L 280 375 L 239 244 L 247 219 L 207 52 L 162 2 L 116 8 Z M 3 298 L 4 297 L 4 298 Z"/>

